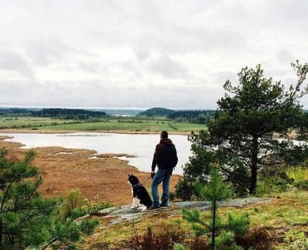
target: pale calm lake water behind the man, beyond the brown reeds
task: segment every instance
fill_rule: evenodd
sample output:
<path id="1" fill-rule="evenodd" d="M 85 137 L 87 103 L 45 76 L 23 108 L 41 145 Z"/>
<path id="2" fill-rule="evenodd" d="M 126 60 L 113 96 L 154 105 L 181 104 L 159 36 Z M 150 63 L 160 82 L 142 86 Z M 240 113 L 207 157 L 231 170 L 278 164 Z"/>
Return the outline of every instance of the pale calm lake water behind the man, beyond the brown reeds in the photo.
<path id="1" fill-rule="evenodd" d="M 60 146 L 63 148 L 86 148 L 97 153 L 127 153 L 136 158 L 123 158 L 141 171 L 150 172 L 155 146 L 160 141 L 158 134 L 114 134 L 79 132 L 69 134 L 0 134 L 13 136 L 6 141 L 23 143 L 22 148 L 36 148 L 44 146 Z M 170 139 L 177 148 L 179 161 L 174 173 L 182 174 L 182 165 L 191 156 L 191 143 L 187 136 L 170 135 Z"/>

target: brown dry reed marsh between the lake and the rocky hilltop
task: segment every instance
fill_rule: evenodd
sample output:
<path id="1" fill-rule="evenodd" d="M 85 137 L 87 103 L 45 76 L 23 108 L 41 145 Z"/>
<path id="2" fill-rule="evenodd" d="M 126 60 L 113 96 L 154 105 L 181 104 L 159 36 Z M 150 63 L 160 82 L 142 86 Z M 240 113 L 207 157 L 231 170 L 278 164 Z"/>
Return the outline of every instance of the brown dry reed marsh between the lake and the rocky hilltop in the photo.
<path id="1" fill-rule="evenodd" d="M 8 149 L 11 159 L 23 158 L 26 150 L 21 143 L 3 141 L 0 148 Z M 2 140 L 1 140 L 2 139 Z M 88 199 L 99 195 L 99 202 L 112 202 L 114 205 L 131 203 L 131 188 L 127 183 L 127 174 L 133 173 L 143 183 L 150 173 L 138 171 L 113 157 L 89 159 L 96 151 L 60 147 L 35 148 L 37 156 L 34 165 L 43 174 L 44 183 L 40 190 L 45 197 L 65 195 L 72 188 L 79 190 Z M 72 152 L 56 156 L 59 152 Z M 150 170 L 150 169 L 149 169 Z M 174 188 L 179 176 L 172 175 L 170 188 Z M 150 181 L 145 185 L 150 188 Z"/>

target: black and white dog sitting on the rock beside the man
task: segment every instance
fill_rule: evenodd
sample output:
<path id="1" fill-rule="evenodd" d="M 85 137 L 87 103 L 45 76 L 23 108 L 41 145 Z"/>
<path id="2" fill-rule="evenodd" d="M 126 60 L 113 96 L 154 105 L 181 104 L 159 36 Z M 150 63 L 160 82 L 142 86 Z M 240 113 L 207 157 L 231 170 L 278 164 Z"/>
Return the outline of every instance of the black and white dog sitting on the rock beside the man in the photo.
<path id="1" fill-rule="evenodd" d="M 135 175 L 128 174 L 128 183 L 131 184 L 131 193 L 133 195 L 133 205 L 131 209 L 144 211 L 152 206 L 152 200 L 148 191 L 140 184 Z"/>

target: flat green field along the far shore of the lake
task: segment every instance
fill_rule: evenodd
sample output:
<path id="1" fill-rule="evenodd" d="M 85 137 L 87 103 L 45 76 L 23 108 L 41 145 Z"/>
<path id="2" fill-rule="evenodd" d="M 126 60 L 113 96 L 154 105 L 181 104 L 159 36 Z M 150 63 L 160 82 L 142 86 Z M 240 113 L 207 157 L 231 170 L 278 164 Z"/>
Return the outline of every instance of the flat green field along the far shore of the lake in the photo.
<path id="1" fill-rule="evenodd" d="M 163 119 L 119 119 L 109 118 L 100 121 L 65 120 L 46 117 L 7 117 L 0 116 L 1 129 L 31 130 L 80 130 L 80 131 L 122 131 L 153 133 L 162 130 L 178 133 L 207 129 L 204 124 L 189 124 Z"/>

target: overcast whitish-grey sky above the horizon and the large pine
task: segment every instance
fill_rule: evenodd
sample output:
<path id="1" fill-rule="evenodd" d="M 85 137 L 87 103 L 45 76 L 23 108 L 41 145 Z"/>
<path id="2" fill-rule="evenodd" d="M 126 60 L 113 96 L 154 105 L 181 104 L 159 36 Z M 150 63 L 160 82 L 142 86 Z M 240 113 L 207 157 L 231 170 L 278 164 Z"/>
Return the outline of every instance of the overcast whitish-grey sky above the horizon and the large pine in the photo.
<path id="1" fill-rule="evenodd" d="M 0 0 L 0 106 L 213 109 L 259 63 L 289 86 L 307 13 L 304 0 Z"/>

